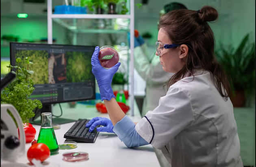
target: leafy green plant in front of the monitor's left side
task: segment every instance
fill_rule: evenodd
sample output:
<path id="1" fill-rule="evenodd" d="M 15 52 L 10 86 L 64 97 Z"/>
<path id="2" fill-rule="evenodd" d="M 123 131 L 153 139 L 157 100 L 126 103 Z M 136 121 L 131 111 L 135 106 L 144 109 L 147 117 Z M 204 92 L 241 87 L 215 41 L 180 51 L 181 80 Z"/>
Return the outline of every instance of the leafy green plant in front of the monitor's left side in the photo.
<path id="1" fill-rule="evenodd" d="M 16 62 L 17 66 L 11 66 L 11 64 L 7 66 L 9 72 L 16 74 L 16 79 L 1 92 L 1 104 L 12 104 L 20 114 L 22 122 L 25 123 L 29 122 L 29 118 L 35 116 L 33 109 L 42 108 L 42 103 L 37 99 L 28 98 L 35 90 L 33 80 L 29 79 L 29 76 L 34 73 L 29 69 L 33 63 L 29 61 L 29 57 L 24 60 L 26 66 L 23 68 L 20 66 L 21 58 L 16 58 Z M 11 71 L 13 68 L 16 69 L 16 72 Z"/>

